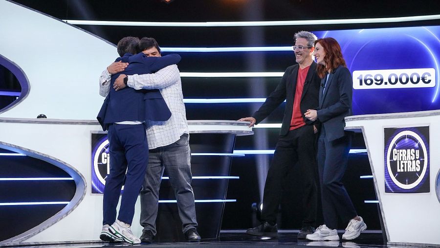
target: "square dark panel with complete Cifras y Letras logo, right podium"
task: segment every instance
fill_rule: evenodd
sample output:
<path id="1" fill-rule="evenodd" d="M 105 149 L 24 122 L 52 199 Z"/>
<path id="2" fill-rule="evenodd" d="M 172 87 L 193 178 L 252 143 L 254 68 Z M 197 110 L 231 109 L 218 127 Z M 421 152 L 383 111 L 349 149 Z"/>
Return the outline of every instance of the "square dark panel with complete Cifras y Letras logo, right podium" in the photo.
<path id="1" fill-rule="evenodd" d="M 385 128 L 384 137 L 385 192 L 430 192 L 429 127 Z"/>

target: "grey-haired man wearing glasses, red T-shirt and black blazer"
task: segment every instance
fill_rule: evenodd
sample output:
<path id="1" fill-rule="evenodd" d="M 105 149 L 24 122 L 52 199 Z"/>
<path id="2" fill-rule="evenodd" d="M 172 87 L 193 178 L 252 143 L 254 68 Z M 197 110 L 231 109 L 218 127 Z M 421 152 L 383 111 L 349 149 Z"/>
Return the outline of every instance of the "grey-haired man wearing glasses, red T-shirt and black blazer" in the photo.
<path id="1" fill-rule="evenodd" d="M 275 148 L 266 182 L 264 184 L 263 209 L 261 225 L 247 230 L 255 236 L 277 236 L 277 210 L 281 200 L 281 180 L 289 169 L 298 164 L 302 178 L 304 196 L 302 208 L 304 218 L 298 239 L 305 239 L 314 232 L 317 208 L 317 172 L 315 153 L 315 122 L 308 120 L 304 113 L 318 107 L 319 85 L 321 79 L 316 74 L 316 63 L 313 61 L 316 36 L 310 32 L 300 31 L 295 34 L 295 52 L 297 65 L 286 69 L 277 88 L 270 93 L 264 104 L 252 117 L 241 118 L 250 121 L 250 127 L 260 123 L 286 100 L 283 124 Z"/>

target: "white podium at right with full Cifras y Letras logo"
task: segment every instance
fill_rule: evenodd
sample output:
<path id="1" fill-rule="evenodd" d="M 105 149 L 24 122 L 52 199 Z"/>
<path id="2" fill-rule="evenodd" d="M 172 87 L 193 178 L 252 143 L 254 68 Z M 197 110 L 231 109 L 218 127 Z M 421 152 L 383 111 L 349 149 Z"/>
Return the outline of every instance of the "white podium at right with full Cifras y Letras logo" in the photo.
<path id="1" fill-rule="evenodd" d="M 440 111 L 345 121 L 346 131 L 364 135 L 388 244 L 440 246 Z"/>

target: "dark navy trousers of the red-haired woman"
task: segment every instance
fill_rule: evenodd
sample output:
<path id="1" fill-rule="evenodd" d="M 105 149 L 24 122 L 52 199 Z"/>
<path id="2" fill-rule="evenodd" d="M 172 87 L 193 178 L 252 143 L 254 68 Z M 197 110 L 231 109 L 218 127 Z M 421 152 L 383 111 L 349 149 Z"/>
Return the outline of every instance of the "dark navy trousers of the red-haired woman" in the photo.
<path id="1" fill-rule="evenodd" d="M 324 126 L 318 138 L 318 172 L 321 183 L 321 200 L 324 222 L 330 229 L 336 229 L 338 217 L 348 223 L 356 214 L 352 200 L 345 190 L 342 177 L 347 169 L 352 138 L 328 141 Z"/>

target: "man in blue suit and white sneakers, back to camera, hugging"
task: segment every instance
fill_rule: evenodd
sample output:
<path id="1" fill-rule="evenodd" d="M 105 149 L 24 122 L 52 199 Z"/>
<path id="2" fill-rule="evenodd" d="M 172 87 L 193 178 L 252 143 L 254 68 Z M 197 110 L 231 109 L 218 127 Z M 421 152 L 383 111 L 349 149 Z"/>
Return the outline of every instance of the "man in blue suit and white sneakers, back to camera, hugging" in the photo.
<path id="1" fill-rule="evenodd" d="M 180 56 L 176 54 L 153 58 L 143 53 L 132 55 L 138 48 L 142 48 L 138 43 L 139 39 L 134 37 L 125 37 L 118 43 L 121 57 L 116 62 L 129 63 L 124 71 L 126 74 L 152 73 L 180 61 Z M 111 82 L 118 76 L 114 74 Z M 147 119 L 165 121 L 170 116 L 171 112 L 157 90 L 134 90 L 127 87 L 116 92 L 110 88 L 97 117 L 103 129 L 109 131 L 110 150 L 110 174 L 104 188 L 102 240 L 140 243 L 139 238 L 132 234 L 130 226 L 148 162 L 144 123 Z M 116 205 L 124 177 L 124 192 L 116 220 Z"/>

